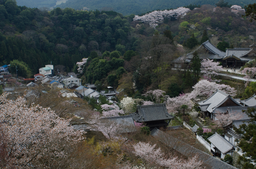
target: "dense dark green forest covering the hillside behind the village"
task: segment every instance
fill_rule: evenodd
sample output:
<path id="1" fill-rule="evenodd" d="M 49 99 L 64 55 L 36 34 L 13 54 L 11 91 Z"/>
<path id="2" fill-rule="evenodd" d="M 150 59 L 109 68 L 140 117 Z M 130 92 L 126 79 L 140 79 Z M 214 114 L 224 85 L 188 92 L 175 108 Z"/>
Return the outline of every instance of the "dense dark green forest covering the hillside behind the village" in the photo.
<path id="1" fill-rule="evenodd" d="M 18 76 L 31 77 L 50 63 L 78 73 L 76 63 L 88 58 L 80 75 L 83 84 L 98 81 L 128 95 L 158 88 L 176 96 L 191 90 L 196 75 L 171 71 L 172 60 L 207 39 L 233 48 L 248 47 L 256 37 L 255 21 L 229 7 L 202 5 L 184 17 L 166 17 L 155 28 L 134 20 L 134 14 L 114 11 L 47 11 L 13 0 L 1 1 L 0 8 L 0 62 L 19 65 Z M 128 85 L 133 81 L 136 89 Z"/>

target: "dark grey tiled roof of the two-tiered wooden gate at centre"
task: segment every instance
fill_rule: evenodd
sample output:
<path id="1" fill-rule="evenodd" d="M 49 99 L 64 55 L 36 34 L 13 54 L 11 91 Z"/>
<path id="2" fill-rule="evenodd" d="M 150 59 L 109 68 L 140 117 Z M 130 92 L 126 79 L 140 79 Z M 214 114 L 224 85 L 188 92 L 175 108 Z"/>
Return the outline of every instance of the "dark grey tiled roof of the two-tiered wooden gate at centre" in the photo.
<path id="1" fill-rule="evenodd" d="M 132 113 L 132 117 L 137 122 L 150 122 L 173 118 L 172 115 L 168 114 L 165 103 L 137 106 L 137 110 L 135 113 Z"/>

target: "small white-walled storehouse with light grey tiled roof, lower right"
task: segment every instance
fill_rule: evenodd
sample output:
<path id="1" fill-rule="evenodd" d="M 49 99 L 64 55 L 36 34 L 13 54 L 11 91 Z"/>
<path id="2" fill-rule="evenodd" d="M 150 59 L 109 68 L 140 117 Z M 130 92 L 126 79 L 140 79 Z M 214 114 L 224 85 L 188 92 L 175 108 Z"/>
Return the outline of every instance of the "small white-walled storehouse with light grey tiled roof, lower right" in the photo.
<path id="1" fill-rule="evenodd" d="M 215 156 L 219 158 L 224 159 L 227 154 L 233 156 L 236 150 L 232 143 L 220 136 L 217 132 L 209 137 L 208 140 L 211 142 L 211 152 L 214 152 Z"/>

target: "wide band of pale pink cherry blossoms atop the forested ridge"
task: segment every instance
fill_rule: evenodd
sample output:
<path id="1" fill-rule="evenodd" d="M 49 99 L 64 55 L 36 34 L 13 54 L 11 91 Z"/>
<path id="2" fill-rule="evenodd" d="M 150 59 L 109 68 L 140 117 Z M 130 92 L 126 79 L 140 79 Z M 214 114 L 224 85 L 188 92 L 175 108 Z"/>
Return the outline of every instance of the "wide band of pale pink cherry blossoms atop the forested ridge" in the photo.
<path id="1" fill-rule="evenodd" d="M 139 20 L 149 23 L 151 27 L 155 28 L 156 26 L 158 26 L 159 23 L 162 23 L 164 21 L 164 18 L 178 18 L 179 16 L 185 16 L 189 10 L 190 9 L 184 7 L 164 11 L 155 10 L 143 16 L 136 15 L 133 20 Z"/>

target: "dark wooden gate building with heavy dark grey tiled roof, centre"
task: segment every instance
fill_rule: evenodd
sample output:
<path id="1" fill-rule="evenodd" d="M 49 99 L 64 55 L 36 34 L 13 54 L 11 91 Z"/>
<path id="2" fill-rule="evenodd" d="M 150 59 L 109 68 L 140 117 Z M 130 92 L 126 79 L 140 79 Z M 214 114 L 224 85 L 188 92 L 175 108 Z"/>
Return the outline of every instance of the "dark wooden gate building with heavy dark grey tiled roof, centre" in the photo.
<path id="1" fill-rule="evenodd" d="M 132 113 L 136 122 L 145 123 L 148 127 L 166 127 L 167 120 L 174 118 L 168 114 L 165 103 L 137 106 L 136 112 Z"/>

